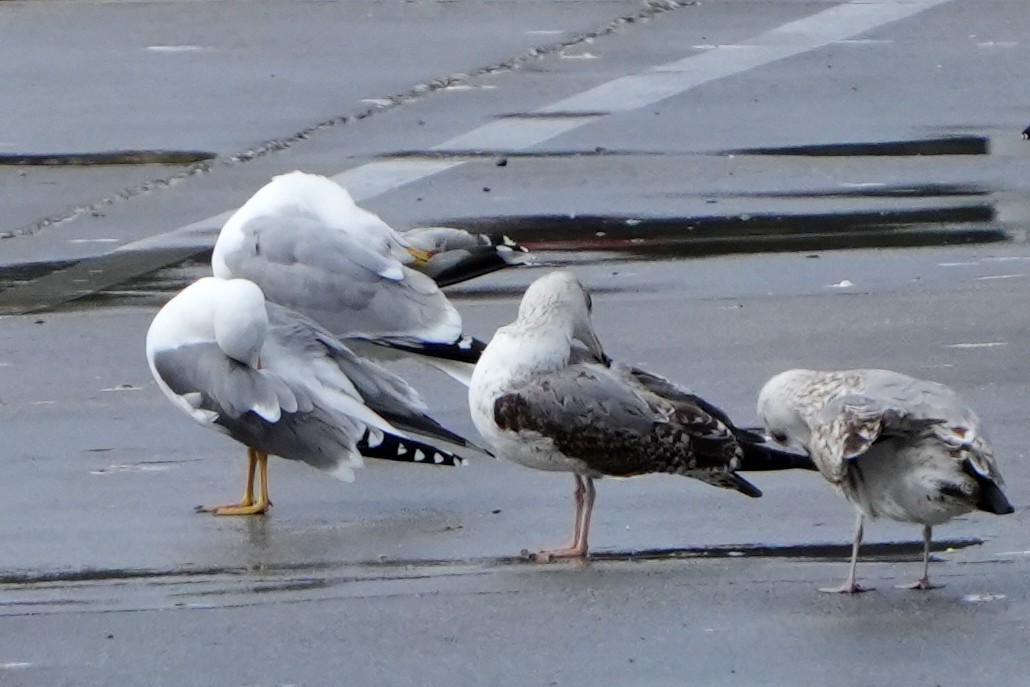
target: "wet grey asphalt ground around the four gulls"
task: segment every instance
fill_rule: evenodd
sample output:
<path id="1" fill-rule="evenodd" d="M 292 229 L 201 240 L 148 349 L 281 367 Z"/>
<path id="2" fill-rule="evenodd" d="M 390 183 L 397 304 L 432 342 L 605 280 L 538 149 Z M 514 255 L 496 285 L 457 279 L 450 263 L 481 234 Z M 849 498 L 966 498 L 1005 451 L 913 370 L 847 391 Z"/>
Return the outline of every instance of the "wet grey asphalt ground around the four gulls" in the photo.
<path id="1" fill-rule="evenodd" d="M 217 156 L 0 166 L 0 685 L 1024 685 L 1030 12 L 856 4 L 0 5 L 0 154 Z M 614 357 L 742 424 L 789 367 L 946 382 L 1017 512 L 937 528 L 928 593 L 893 588 L 918 527 L 872 523 L 854 598 L 816 591 L 853 517 L 809 473 L 605 480 L 588 564 L 520 559 L 564 542 L 572 479 L 500 461 L 278 460 L 269 516 L 195 514 L 244 452 L 167 403 L 143 337 L 295 168 L 533 247 L 448 288 L 469 332 L 569 266 Z M 474 434 L 461 387 L 398 369 Z"/>

